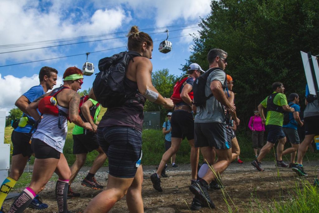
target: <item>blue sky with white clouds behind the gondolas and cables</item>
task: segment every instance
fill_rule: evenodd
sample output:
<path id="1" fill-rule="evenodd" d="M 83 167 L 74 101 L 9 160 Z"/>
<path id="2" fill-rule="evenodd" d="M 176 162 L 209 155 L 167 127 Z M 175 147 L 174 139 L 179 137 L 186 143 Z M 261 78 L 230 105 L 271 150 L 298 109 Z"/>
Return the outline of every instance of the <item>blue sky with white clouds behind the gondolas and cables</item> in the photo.
<path id="1" fill-rule="evenodd" d="M 139 26 L 140 29 L 154 29 L 198 23 L 200 17 L 205 18 L 210 13 L 210 0 L 2 0 L 0 1 L 0 7 L 3 9 L 0 13 L 0 20 L 2 20 L 0 23 L 0 45 L 8 45 L 128 32 L 133 25 Z M 180 75 L 181 64 L 185 64 L 185 59 L 189 58 L 190 47 L 193 44 L 192 37 L 189 34 L 197 33 L 200 28 L 197 25 L 168 28 L 170 30 L 168 40 L 173 43 L 173 50 L 163 54 L 158 51 L 158 46 L 160 41 L 166 39 L 165 29 L 145 31 L 155 33 L 151 34 L 154 41 L 153 59 L 151 60 L 153 71 L 168 68 L 171 74 Z M 127 38 L 117 38 L 123 36 L 125 35 L 108 35 L 69 42 L 42 43 L 15 48 L 0 47 L 0 66 L 83 54 L 62 59 L 0 67 L 0 110 L 8 112 L 14 107 L 15 100 L 21 94 L 39 83 L 38 73 L 41 67 L 56 68 L 59 71 L 58 83 L 60 84 L 62 83 L 63 72 L 67 67 L 82 67 L 86 61 L 85 52 L 117 48 L 89 55 L 88 61 L 94 63 L 95 72 L 98 72 L 97 65 L 101 58 L 126 50 L 125 47 L 118 48 L 126 46 Z M 2 53 L 99 39 L 109 40 Z M 82 90 L 91 87 L 94 78 L 95 75 L 85 76 Z"/>

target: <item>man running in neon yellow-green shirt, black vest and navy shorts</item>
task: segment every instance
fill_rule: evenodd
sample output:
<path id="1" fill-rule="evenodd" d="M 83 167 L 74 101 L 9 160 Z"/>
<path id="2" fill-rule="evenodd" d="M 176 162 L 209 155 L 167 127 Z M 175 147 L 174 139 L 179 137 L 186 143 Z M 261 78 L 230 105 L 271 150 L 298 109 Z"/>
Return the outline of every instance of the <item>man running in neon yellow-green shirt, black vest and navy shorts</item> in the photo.
<path id="1" fill-rule="evenodd" d="M 295 109 L 288 106 L 286 95 L 284 94 L 285 87 L 281 82 L 275 82 L 271 86 L 273 93 L 267 96 L 259 105 L 259 114 L 262 117 L 263 123 L 266 124 L 268 130 L 267 143 L 260 150 L 260 153 L 256 160 L 251 162 L 251 164 L 256 167 L 258 171 L 264 171 L 261 168 L 261 161 L 270 152 L 271 148 L 275 146 L 275 143 L 279 140 L 277 145 L 277 166 L 287 167 L 282 160 L 282 152 L 284 150 L 284 145 L 286 143 L 286 136 L 282 130 L 282 125 L 284 122 L 284 111 L 294 112 Z M 263 114 L 263 109 L 267 108 L 267 119 Z"/>

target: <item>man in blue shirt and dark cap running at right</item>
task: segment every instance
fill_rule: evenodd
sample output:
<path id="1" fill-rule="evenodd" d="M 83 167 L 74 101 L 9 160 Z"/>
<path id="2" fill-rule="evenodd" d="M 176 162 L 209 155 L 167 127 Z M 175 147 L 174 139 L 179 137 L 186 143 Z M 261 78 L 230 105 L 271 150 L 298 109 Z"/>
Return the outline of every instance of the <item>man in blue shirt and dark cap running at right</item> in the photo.
<path id="1" fill-rule="evenodd" d="M 293 164 L 295 164 L 295 157 L 297 154 L 297 150 L 299 148 L 299 135 L 297 131 L 298 124 L 303 126 L 303 122 L 301 122 L 299 113 L 300 113 L 300 106 L 299 103 L 299 95 L 297 93 L 291 93 L 288 98 L 289 106 L 293 107 L 295 111 L 293 113 L 289 113 L 289 120 L 288 123 L 282 126 L 282 129 L 289 138 L 289 142 L 291 143 L 291 147 L 284 150 L 282 155 L 290 154 L 290 163 L 289 168 L 292 168 Z"/>

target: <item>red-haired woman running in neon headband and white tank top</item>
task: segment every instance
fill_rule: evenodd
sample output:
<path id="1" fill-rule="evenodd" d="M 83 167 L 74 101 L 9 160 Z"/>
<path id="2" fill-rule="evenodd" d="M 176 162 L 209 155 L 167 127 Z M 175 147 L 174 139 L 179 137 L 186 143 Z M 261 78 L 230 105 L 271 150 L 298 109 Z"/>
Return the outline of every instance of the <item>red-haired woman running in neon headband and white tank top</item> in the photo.
<path id="1" fill-rule="evenodd" d="M 67 116 L 71 122 L 85 129 L 92 130 L 92 126 L 90 123 L 83 122 L 78 115 L 80 96 L 77 91 L 83 83 L 81 70 L 77 67 L 67 68 L 63 78 L 63 87 L 59 88 L 61 91 L 55 96 L 56 106 L 60 113 L 58 116 L 43 114 L 43 118 L 31 139 L 31 147 L 35 154 L 31 183 L 12 203 L 9 212 L 23 212 L 33 198 L 44 189 L 53 172 L 59 177 L 56 182 L 58 212 L 68 212 L 66 197 L 71 171 L 62 153 L 68 132 Z M 50 94 L 51 92 L 48 92 L 41 96 L 26 108 L 35 120 L 40 118 L 37 111 L 40 99 Z"/>

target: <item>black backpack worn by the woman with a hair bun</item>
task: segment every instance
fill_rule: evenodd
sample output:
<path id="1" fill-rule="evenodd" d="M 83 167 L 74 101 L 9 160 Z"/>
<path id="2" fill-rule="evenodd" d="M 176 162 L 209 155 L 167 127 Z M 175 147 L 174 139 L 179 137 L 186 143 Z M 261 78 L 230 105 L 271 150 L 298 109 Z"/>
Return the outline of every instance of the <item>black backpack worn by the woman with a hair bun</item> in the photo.
<path id="1" fill-rule="evenodd" d="M 137 93 L 128 94 L 124 88 L 126 67 L 136 56 L 141 55 L 135 51 L 125 51 L 99 61 L 100 72 L 93 82 L 93 92 L 103 107 L 121 106 Z"/>

